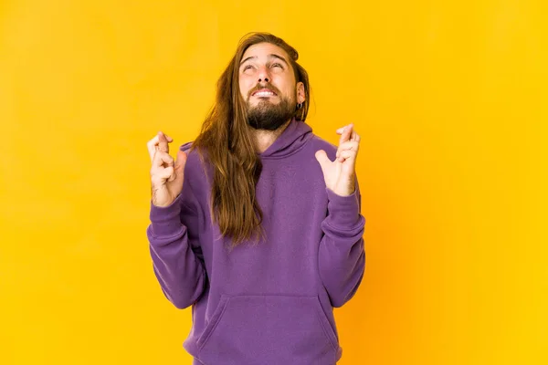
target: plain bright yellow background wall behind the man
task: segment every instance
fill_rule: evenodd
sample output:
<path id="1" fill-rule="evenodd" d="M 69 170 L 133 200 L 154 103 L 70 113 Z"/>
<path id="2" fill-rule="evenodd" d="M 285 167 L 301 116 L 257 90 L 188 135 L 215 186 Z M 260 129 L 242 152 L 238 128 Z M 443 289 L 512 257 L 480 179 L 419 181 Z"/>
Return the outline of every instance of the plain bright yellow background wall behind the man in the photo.
<path id="1" fill-rule="evenodd" d="M 300 51 L 317 134 L 362 135 L 340 363 L 548 363 L 547 20 L 543 0 L 0 2 L 0 363 L 190 364 L 145 143 L 195 138 L 256 30 Z"/>

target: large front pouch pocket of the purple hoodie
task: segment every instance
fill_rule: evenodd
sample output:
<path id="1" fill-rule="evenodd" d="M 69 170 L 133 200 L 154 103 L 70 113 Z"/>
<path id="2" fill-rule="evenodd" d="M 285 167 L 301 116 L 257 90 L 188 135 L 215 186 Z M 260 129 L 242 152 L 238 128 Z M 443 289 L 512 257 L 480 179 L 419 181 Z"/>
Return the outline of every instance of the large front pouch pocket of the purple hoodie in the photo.
<path id="1" fill-rule="evenodd" d="M 223 295 L 197 345 L 212 364 L 334 364 L 339 348 L 316 296 Z"/>

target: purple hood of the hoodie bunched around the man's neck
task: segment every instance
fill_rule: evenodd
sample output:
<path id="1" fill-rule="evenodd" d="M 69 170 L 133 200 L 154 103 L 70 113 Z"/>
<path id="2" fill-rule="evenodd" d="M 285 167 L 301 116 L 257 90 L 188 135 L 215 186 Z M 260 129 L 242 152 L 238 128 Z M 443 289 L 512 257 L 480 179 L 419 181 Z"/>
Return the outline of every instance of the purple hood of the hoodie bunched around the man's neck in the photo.
<path id="1" fill-rule="evenodd" d="M 258 153 L 261 159 L 279 159 L 299 151 L 312 138 L 311 126 L 294 117 L 266 151 Z"/>

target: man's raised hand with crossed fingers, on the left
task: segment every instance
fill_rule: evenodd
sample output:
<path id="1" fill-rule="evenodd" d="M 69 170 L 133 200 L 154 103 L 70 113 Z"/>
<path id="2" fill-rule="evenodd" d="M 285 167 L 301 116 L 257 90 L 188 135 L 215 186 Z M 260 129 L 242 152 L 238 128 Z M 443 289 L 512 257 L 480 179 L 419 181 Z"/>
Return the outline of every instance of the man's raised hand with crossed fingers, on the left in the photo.
<path id="1" fill-rule="evenodd" d="M 186 153 L 177 152 L 177 161 L 169 155 L 168 143 L 173 142 L 171 137 L 159 131 L 148 141 L 147 147 L 153 164 L 151 168 L 151 192 L 153 204 L 168 206 L 174 203 L 175 198 L 183 191 L 183 171 L 186 163 Z"/>

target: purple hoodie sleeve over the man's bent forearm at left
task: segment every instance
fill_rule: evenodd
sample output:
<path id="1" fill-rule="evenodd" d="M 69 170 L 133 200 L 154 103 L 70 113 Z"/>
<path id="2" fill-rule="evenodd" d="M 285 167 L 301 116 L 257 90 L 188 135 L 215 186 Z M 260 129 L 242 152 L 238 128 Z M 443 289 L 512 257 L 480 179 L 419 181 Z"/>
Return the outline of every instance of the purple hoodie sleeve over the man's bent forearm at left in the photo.
<path id="1" fill-rule="evenodd" d="M 190 307 L 204 292 L 207 280 L 198 240 L 199 206 L 190 183 L 169 206 L 151 202 L 147 228 L 153 270 L 163 294 L 176 308 Z"/>

